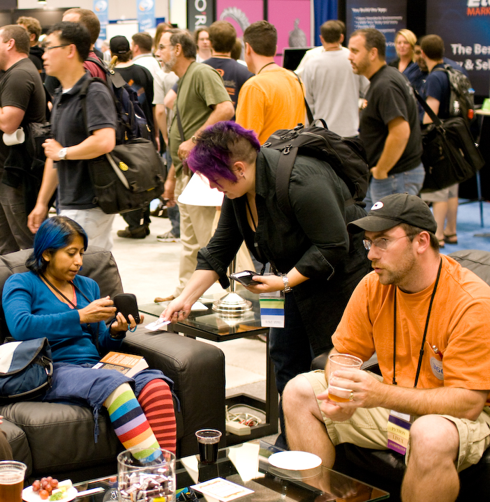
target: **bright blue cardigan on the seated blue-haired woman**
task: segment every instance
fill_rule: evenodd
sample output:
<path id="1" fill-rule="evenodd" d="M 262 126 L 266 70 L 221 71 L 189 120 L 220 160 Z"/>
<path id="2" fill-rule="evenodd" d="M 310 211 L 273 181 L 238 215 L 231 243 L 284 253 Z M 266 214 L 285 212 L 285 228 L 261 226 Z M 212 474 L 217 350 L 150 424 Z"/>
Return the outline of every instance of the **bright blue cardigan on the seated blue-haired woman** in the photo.
<path id="1" fill-rule="evenodd" d="M 101 297 L 98 284 L 89 277 L 76 275 L 73 281 L 90 301 Z M 77 291 L 77 307 L 89 302 Z M 100 360 L 87 324 L 80 324 L 77 310 L 60 301 L 34 272 L 15 273 L 3 287 L 3 312 L 15 340 L 47 337 L 54 363 L 97 363 Z M 91 323 L 96 333 L 97 323 Z M 122 340 L 113 340 L 103 321 L 98 323 L 101 348 L 117 350 Z"/>

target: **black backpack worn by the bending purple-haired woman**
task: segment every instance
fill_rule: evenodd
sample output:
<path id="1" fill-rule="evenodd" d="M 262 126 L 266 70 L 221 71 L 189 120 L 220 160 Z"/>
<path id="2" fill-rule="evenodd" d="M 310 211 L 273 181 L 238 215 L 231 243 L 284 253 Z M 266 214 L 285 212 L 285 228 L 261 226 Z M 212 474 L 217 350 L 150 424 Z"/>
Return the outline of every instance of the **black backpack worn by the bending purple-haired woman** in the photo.
<path id="1" fill-rule="evenodd" d="M 358 204 L 364 207 L 364 197 L 369 184 L 369 166 L 362 142 L 357 138 L 340 137 L 327 129 L 325 121 L 320 119 L 323 127 L 309 127 L 298 124 L 294 129 L 280 129 L 270 135 L 263 148 L 281 151 L 276 172 L 276 196 L 281 211 L 292 217 L 289 200 L 289 181 L 296 155 L 306 155 L 328 162 L 334 172 L 341 178 L 350 191 L 351 199 L 346 206 Z"/>

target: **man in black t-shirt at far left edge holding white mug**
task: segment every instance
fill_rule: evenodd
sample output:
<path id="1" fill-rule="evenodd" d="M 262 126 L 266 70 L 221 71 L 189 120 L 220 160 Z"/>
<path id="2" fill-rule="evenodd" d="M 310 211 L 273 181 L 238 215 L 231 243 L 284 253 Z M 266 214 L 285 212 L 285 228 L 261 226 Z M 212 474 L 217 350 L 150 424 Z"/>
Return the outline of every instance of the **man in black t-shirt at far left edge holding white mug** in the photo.
<path id="1" fill-rule="evenodd" d="M 10 135 L 23 128 L 25 133 L 29 123 L 44 121 L 46 98 L 38 70 L 29 59 L 29 33 L 23 26 L 0 29 L 0 70 L 5 72 L 0 79 L 0 131 Z M 7 146 L 1 136 L 0 254 L 31 248 L 34 242 L 27 227 L 27 178 L 23 176 L 24 169 L 30 170 L 29 159 L 24 145 Z"/>

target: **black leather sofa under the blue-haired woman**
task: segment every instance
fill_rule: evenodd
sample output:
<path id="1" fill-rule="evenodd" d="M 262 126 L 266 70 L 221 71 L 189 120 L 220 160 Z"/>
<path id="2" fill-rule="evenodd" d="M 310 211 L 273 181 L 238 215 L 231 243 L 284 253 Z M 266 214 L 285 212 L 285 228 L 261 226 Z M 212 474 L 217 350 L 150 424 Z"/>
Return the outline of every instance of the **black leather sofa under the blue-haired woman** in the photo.
<path id="1" fill-rule="evenodd" d="M 3 284 L 13 273 L 27 271 L 29 250 L 0 257 L 0 298 Z M 101 296 L 122 292 L 121 278 L 112 254 L 91 247 L 81 271 L 96 280 Z M 142 277 L 144 280 L 144 277 Z M 8 336 L 0 307 L 0 340 Z M 175 333 L 149 332 L 138 326 L 128 332 L 121 351 L 144 356 L 149 367 L 162 370 L 175 382 L 177 457 L 198 452 L 195 431 L 212 427 L 225 432 L 225 362 L 213 345 Z M 175 403 L 176 404 L 176 403 Z M 16 460 L 27 464 L 29 480 L 42 476 L 73 481 L 108 476 L 117 472 L 117 453 L 123 449 L 105 409 L 94 443 L 92 411 L 83 406 L 42 402 L 18 402 L 0 406 L 1 429 L 6 432 Z M 224 446 L 224 444 L 223 444 Z"/>

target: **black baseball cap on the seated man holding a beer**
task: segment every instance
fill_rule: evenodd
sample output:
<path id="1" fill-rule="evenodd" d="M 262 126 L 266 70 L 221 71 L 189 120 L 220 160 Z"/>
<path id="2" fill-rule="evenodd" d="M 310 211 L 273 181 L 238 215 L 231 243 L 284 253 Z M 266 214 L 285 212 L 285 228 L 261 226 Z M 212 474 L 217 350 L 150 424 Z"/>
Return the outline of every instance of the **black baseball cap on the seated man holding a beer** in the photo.
<path id="1" fill-rule="evenodd" d="M 385 231 L 406 223 L 436 233 L 437 223 L 429 206 L 415 195 L 392 194 L 373 204 L 367 216 L 350 222 L 347 229 L 350 234 L 360 231 Z"/>

